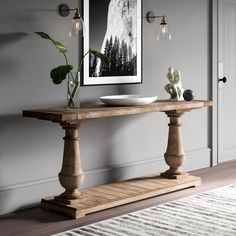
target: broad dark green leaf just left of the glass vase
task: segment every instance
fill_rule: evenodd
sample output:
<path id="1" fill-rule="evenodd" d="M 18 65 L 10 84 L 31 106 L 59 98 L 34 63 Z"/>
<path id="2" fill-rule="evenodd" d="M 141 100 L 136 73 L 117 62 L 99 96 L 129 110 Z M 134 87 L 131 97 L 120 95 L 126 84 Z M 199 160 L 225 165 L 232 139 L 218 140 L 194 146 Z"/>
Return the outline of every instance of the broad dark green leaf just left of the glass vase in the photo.
<path id="1" fill-rule="evenodd" d="M 69 74 L 73 69 L 72 65 L 62 65 L 51 70 L 50 76 L 54 84 L 60 84 L 66 79 L 67 74 Z"/>

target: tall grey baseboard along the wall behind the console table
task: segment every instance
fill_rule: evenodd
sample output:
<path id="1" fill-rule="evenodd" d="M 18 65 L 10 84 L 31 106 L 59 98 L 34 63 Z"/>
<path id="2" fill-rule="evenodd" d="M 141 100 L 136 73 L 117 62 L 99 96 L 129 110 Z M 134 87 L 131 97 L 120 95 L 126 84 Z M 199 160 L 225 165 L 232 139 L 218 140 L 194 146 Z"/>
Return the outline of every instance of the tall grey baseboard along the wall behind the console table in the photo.
<path id="1" fill-rule="evenodd" d="M 187 161 L 183 167 L 186 171 L 210 166 L 211 150 L 209 148 L 193 150 L 187 152 L 186 155 Z M 85 173 L 86 178 L 83 188 L 158 173 L 167 168 L 163 157 L 159 156 L 111 168 L 90 170 Z M 56 176 L 48 179 L 1 186 L 0 215 L 39 205 L 41 198 L 59 194 L 62 191 L 63 189 L 60 187 Z"/>

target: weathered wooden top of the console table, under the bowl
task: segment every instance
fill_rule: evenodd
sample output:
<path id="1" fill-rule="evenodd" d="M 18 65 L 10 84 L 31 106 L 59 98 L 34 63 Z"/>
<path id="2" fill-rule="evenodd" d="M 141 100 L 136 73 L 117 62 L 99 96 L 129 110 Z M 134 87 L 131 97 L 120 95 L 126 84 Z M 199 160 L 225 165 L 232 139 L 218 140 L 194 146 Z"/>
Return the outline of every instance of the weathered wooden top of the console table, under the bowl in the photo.
<path id="1" fill-rule="evenodd" d="M 171 101 L 158 100 L 154 103 L 141 106 L 107 106 L 107 105 L 87 105 L 79 109 L 67 108 L 44 108 L 24 110 L 24 117 L 49 120 L 57 123 L 79 123 L 84 120 L 104 117 L 123 116 L 140 114 L 147 112 L 168 112 L 168 111 L 189 111 L 203 107 L 211 107 L 212 101 Z"/>

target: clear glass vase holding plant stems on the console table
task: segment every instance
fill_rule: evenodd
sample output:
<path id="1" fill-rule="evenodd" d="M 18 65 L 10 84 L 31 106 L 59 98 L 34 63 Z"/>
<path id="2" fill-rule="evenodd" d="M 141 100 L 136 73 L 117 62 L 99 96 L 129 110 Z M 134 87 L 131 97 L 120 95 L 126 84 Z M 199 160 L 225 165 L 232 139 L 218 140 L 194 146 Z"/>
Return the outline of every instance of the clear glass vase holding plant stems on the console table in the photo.
<path id="1" fill-rule="evenodd" d="M 67 108 L 79 109 L 79 90 L 80 90 L 80 72 L 77 73 L 76 78 L 68 77 L 67 80 Z"/>

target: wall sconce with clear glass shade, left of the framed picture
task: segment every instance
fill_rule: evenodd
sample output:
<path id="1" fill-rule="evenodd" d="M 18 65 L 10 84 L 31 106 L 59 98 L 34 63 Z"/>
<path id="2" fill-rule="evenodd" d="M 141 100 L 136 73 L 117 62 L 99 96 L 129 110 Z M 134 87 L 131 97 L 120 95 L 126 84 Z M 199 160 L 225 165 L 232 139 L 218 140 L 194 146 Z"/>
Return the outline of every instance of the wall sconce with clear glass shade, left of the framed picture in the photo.
<path id="1" fill-rule="evenodd" d="M 60 4 L 57 9 L 58 14 L 62 17 L 69 16 L 71 11 L 75 11 L 75 15 L 72 20 L 69 36 L 85 36 L 84 21 L 80 16 L 79 8 L 70 8 L 67 4 Z"/>

